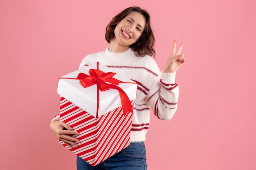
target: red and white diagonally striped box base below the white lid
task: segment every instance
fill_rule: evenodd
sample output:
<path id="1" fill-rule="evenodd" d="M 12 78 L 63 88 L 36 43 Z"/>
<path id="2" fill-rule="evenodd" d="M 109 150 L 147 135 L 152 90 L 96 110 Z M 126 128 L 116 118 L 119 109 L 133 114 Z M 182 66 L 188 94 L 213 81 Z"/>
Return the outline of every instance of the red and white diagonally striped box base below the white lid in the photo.
<path id="1" fill-rule="evenodd" d="M 133 101 L 132 101 L 133 104 Z M 99 118 L 77 107 L 61 97 L 60 121 L 69 124 L 79 135 L 73 135 L 81 141 L 79 147 L 71 149 L 64 142 L 60 144 L 95 166 L 123 150 L 130 143 L 132 113 L 123 114 L 118 107 Z"/>

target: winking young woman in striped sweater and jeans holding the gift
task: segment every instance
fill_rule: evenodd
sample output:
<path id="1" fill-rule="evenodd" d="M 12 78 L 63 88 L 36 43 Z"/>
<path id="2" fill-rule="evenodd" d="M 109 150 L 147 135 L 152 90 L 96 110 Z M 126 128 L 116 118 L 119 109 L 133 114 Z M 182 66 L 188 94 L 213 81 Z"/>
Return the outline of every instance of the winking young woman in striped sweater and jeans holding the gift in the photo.
<path id="1" fill-rule="evenodd" d="M 175 73 L 185 62 L 184 54 L 181 53 L 183 44 L 176 51 L 176 41 L 173 42 L 171 55 L 160 72 L 151 57 L 155 56 L 155 39 L 150 27 L 150 16 L 139 7 L 127 8 L 113 17 L 106 27 L 105 38 L 110 46 L 105 51 L 86 56 L 79 68 L 99 61 L 138 83 L 130 146 L 94 167 L 77 157 L 77 169 L 146 170 L 143 142 L 149 127 L 150 108 L 162 120 L 170 120 L 175 113 L 179 95 Z M 69 147 L 78 146 L 80 141 L 70 136 L 77 132 L 59 121 L 59 116 L 52 120 L 51 129 Z"/>

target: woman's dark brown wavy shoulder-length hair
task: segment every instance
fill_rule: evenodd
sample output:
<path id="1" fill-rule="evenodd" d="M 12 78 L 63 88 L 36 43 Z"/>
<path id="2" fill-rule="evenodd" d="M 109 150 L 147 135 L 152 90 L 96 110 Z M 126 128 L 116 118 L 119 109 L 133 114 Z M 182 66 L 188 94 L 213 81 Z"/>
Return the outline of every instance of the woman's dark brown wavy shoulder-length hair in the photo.
<path id="1" fill-rule="evenodd" d="M 147 11 L 141 9 L 140 7 L 129 7 L 113 17 L 106 27 L 105 38 L 108 43 L 115 39 L 114 30 L 117 24 L 121 22 L 121 20 L 123 20 L 132 11 L 138 12 L 145 17 L 146 26 L 141 33 L 139 39 L 136 41 L 136 43 L 130 45 L 130 48 L 135 52 L 135 55 L 138 57 L 144 57 L 146 54 L 155 57 L 155 37 L 150 26 L 150 15 Z"/>

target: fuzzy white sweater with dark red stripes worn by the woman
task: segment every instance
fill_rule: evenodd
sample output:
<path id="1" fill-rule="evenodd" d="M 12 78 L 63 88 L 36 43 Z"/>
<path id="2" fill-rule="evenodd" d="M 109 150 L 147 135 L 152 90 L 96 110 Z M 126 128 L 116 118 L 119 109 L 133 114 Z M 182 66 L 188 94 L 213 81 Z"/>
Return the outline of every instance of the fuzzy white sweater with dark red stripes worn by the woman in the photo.
<path id="1" fill-rule="evenodd" d="M 106 48 L 105 51 L 89 54 L 83 58 L 79 69 L 97 61 L 138 84 L 130 142 L 146 140 L 150 123 L 150 108 L 159 119 L 170 120 L 173 117 L 177 110 L 179 96 L 175 73 L 160 72 L 152 57 L 148 55 L 137 57 L 130 48 L 121 53 L 110 52 Z M 58 120 L 59 116 L 54 119 Z"/>

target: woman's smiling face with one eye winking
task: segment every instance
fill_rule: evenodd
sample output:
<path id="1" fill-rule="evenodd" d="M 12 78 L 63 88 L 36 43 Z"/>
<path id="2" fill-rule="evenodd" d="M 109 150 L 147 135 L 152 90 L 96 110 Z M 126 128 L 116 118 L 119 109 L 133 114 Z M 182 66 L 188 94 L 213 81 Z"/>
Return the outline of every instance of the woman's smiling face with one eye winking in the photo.
<path id="1" fill-rule="evenodd" d="M 122 46 L 130 46 L 144 31 L 146 19 L 138 12 L 132 11 L 115 27 L 115 39 Z"/>

